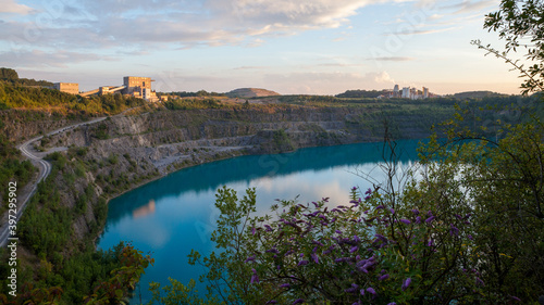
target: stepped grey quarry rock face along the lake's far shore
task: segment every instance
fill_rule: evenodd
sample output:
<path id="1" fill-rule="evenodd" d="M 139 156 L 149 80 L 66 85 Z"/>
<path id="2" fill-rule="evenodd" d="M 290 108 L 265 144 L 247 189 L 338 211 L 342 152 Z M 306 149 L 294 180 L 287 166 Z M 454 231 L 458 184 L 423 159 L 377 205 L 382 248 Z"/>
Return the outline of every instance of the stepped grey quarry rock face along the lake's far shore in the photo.
<path id="1" fill-rule="evenodd" d="M 390 122 L 388 129 L 403 138 L 429 135 L 429 127 L 409 115 L 397 115 Z M 383 134 L 381 118 L 364 109 L 158 111 L 109 118 L 49 137 L 42 145 L 86 147 L 97 158 L 127 154 L 137 163 L 151 163 L 168 173 L 175 169 L 170 165 L 202 156 L 381 141 Z"/>

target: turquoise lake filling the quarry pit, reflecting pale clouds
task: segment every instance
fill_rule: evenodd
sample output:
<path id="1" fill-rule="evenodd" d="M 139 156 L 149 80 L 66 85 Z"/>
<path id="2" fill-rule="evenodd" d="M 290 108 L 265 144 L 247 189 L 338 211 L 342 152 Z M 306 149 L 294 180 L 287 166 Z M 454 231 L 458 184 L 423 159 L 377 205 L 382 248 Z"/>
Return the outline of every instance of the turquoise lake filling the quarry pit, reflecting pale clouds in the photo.
<path id="1" fill-rule="evenodd" d="M 398 164 L 411 168 L 417 160 L 418 141 L 398 142 Z M 380 168 L 383 143 L 360 143 L 301 149 L 294 153 L 251 155 L 218 161 L 182 169 L 127 192 L 109 203 L 104 233 L 98 246 L 109 249 L 120 241 L 131 241 L 156 263 L 146 269 L 134 302 L 149 300 L 148 283 L 168 284 L 168 278 L 187 283 L 203 269 L 187 264 L 190 250 L 207 255 L 219 212 L 214 206 L 217 189 L 226 186 L 242 198 L 247 188 L 257 190 L 259 214 L 270 214 L 276 199 L 299 203 L 330 198 L 331 205 L 347 204 L 349 190 L 372 187 L 361 178 L 383 182 Z M 356 175 L 359 173 L 359 175 Z M 203 295 L 206 285 L 199 284 Z"/>

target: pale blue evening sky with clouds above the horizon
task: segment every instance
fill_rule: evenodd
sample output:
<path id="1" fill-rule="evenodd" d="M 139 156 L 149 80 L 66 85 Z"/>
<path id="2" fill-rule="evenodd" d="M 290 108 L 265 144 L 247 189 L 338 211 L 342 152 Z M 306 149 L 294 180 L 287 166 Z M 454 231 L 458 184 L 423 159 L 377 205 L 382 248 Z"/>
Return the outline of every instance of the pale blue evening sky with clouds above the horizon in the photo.
<path id="1" fill-rule="evenodd" d="M 81 90 L 519 93 L 483 28 L 499 0 L 0 0 L 0 66 Z"/>

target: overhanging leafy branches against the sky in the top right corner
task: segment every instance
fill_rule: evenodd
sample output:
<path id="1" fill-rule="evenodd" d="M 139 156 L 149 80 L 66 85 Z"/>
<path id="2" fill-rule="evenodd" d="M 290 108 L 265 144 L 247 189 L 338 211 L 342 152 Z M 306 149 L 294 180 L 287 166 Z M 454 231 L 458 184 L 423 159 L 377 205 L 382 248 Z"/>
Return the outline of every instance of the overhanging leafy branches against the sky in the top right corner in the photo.
<path id="1" fill-rule="evenodd" d="M 486 15 L 484 28 L 498 33 L 498 37 L 506 41 L 505 50 L 483 46 L 480 40 L 472 42 L 519 71 L 520 77 L 526 78 L 521 85 L 524 94 L 544 90 L 543 14 L 544 3 L 540 0 L 502 0 L 499 10 Z M 509 58 L 519 49 L 526 50 L 523 61 Z"/>

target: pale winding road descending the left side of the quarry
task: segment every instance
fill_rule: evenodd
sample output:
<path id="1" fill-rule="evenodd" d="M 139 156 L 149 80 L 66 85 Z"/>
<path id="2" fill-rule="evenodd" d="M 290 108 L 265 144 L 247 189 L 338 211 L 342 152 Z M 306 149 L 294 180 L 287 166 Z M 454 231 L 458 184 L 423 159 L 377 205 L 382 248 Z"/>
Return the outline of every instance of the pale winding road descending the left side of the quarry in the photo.
<path id="1" fill-rule="evenodd" d="M 128 111 L 128 110 L 127 110 Z M 125 111 L 126 112 L 126 111 Z M 123 112 L 122 114 L 124 114 L 125 112 Z M 121 114 L 120 114 L 121 115 Z M 51 131 L 49 134 L 47 134 L 47 136 L 53 136 L 53 135 L 57 135 L 57 134 L 61 134 L 61 132 L 64 132 L 66 130 L 70 130 L 70 129 L 74 129 L 76 127 L 79 127 L 79 126 L 84 126 L 84 125 L 90 125 L 90 124 L 95 124 L 95 123 L 98 123 L 98 122 L 102 122 L 106 118 L 108 118 L 107 116 L 104 117 L 99 117 L 99 118 L 95 118 L 92 120 L 88 120 L 88 122 L 84 122 L 84 123 L 78 123 L 78 124 L 74 124 L 74 125 L 71 125 L 71 126 L 65 126 L 65 127 L 62 127 L 60 129 L 57 129 L 54 131 Z M 29 185 L 29 186 L 26 186 L 25 189 L 27 188 L 30 188 L 30 191 L 29 192 L 26 192 L 24 194 L 18 194 L 21 193 L 21 189 L 18 190 L 20 192 L 17 193 L 17 212 L 16 212 L 16 221 L 18 223 L 18 220 L 21 219 L 21 216 L 23 216 L 23 211 L 25 209 L 26 207 L 26 203 L 28 202 L 28 200 L 34 195 L 34 193 L 36 192 L 36 190 L 38 189 L 38 183 L 46 179 L 47 176 L 49 176 L 49 174 L 51 173 L 51 164 L 47 161 L 44 160 L 44 156 L 47 155 L 47 154 L 35 154 L 32 152 L 32 149 L 29 149 L 30 144 L 38 141 L 38 140 L 41 140 L 41 138 L 44 138 L 44 136 L 40 136 L 40 137 L 36 137 L 34 139 L 30 139 L 24 143 L 22 143 L 21 145 L 17 147 L 17 149 L 23 153 L 23 155 L 27 158 L 30 160 L 30 162 L 38 167 L 39 169 L 39 176 L 38 176 L 38 179 Z M 0 227 L 0 246 L 5 246 L 8 244 L 8 241 L 9 240 L 17 240 L 16 237 L 10 237 L 10 229 L 9 229 L 9 221 L 8 221 L 8 213 L 7 212 L 4 215 L 2 215 L 2 226 Z"/>

